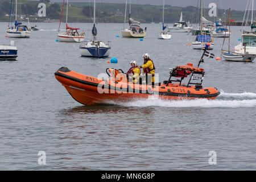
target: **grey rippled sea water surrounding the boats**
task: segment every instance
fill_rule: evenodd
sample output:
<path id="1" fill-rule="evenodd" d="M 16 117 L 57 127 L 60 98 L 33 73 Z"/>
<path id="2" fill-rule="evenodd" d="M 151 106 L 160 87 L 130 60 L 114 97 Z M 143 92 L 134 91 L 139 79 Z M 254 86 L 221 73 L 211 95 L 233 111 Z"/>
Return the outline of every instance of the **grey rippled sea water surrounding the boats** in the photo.
<path id="1" fill-rule="evenodd" d="M 30 39 L 15 40 L 17 61 L 0 61 L 1 170 L 250 170 L 256 169 L 255 61 L 232 63 L 205 59 L 203 86 L 221 91 L 213 101 L 162 101 L 157 98 L 83 106 L 55 79 L 60 67 L 97 76 L 106 68 L 129 69 L 131 60 L 143 63 L 148 52 L 160 81 L 168 68 L 197 64 L 201 51 L 186 46 L 187 33 L 158 40 L 160 24 L 147 27 L 143 41 L 121 36 L 123 24 L 97 24 L 98 38 L 111 41 L 109 58 L 80 57 L 80 43 L 56 42 L 58 23 L 36 23 Z M 34 23 L 31 23 L 34 25 Z M 91 38 L 92 24 L 71 23 Z M 117 38 L 116 36 L 120 37 Z M 241 38 L 232 27 L 232 46 Z M 212 53 L 221 55 L 221 38 Z M 226 42 L 227 43 L 227 42 Z M 225 46 L 226 47 L 226 46 Z M 117 64 L 106 63 L 117 57 Z M 46 152 L 46 165 L 38 152 Z M 215 151 L 217 164 L 209 164 Z"/>

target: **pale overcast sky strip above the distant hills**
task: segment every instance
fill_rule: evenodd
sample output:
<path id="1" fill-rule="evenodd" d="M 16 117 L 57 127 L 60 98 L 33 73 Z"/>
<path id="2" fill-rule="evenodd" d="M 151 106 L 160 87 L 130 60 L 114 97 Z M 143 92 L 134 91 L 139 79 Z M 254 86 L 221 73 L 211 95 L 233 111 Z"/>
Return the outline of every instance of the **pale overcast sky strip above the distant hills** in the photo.
<path id="1" fill-rule="evenodd" d="M 52 2 L 62 2 L 61 0 L 51 0 Z M 66 1 L 66 0 L 65 0 Z M 127 0 L 127 2 L 133 4 L 149 4 L 149 5 L 162 5 L 162 0 Z M 196 6 L 198 0 L 165 0 L 166 5 L 171 6 Z M 229 9 L 232 10 L 245 10 L 247 1 L 251 0 L 204 0 L 204 7 L 208 7 L 209 3 L 214 2 L 218 3 L 220 9 Z M 93 2 L 93 0 L 68 0 L 68 2 Z M 96 3 L 99 2 L 108 2 L 108 3 L 125 3 L 125 0 L 96 0 Z M 256 2 L 255 2 L 256 3 Z M 255 5 L 254 3 L 254 5 Z M 255 6 L 254 6 L 255 7 Z"/>

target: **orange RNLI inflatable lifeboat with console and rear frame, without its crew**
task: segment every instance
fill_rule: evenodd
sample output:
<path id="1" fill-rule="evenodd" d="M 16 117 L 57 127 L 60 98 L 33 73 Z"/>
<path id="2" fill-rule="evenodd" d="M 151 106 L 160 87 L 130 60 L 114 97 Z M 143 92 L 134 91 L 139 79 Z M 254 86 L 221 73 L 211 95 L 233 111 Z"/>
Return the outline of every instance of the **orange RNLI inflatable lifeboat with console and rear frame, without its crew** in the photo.
<path id="1" fill-rule="evenodd" d="M 203 62 L 203 56 L 199 65 L 200 62 Z M 61 67 L 55 72 L 55 77 L 77 102 L 84 105 L 100 104 L 106 100 L 129 101 L 152 95 L 163 100 L 215 99 L 220 92 L 216 88 L 202 87 L 205 72 L 198 67 L 193 67 L 191 63 L 177 66 L 171 69 L 168 80 L 154 86 L 129 82 L 121 69 L 107 68 L 108 77 L 97 78 Z M 186 77 L 188 82 L 183 84 Z"/>

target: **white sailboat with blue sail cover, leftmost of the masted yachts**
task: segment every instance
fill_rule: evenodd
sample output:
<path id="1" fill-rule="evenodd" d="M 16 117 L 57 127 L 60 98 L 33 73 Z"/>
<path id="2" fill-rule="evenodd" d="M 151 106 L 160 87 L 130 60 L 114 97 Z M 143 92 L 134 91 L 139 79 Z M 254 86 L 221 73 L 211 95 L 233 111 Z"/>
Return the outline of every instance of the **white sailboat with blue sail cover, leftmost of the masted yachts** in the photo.
<path id="1" fill-rule="evenodd" d="M 30 38 L 30 29 L 26 25 L 22 25 L 21 22 L 17 22 L 17 1 L 15 1 L 15 27 L 8 26 L 6 30 L 7 36 L 9 38 Z"/>

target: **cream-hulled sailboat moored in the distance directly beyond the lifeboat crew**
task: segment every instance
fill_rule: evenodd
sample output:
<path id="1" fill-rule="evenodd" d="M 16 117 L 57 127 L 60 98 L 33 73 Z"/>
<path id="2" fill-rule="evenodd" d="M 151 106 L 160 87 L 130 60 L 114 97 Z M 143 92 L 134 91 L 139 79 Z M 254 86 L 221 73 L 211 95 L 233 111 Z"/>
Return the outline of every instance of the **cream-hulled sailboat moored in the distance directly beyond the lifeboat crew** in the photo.
<path id="1" fill-rule="evenodd" d="M 126 24 L 126 8 L 127 8 L 127 0 L 125 2 L 125 20 L 123 24 L 123 29 L 121 30 L 122 36 L 127 38 L 143 38 L 146 35 L 146 28 L 143 30 L 139 25 L 141 22 L 138 22 L 131 18 L 131 2 L 130 2 L 130 13 L 128 15 L 129 18 L 129 28 L 125 27 Z"/>

